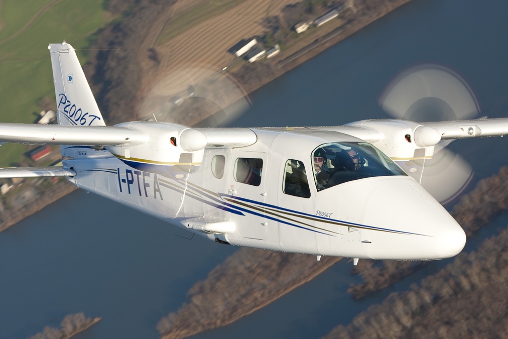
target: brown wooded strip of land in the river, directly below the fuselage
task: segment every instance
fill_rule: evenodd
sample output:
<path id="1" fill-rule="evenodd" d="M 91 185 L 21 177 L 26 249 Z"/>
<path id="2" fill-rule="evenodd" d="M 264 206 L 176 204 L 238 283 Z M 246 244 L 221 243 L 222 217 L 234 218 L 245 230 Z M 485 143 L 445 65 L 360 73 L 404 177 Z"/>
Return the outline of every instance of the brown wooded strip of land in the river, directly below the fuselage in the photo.
<path id="1" fill-rule="evenodd" d="M 325 257 L 318 262 L 311 255 L 242 248 L 190 288 L 189 301 L 161 319 L 157 330 L 164 339 L 177 339 L 229 325 L 309 282 L 341 259 Z"/>

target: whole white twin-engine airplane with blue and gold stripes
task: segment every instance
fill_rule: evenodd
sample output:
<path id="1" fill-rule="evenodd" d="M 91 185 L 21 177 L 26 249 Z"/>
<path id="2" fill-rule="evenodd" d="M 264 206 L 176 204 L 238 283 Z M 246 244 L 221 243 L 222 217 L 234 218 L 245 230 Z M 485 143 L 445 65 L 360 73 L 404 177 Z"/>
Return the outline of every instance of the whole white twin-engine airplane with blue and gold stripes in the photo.
<path id="1" fill-rule="evenodd" d="M 106 126 L 73 47 L 50 44 L 58 125 L 0 124 L 0 141 L 61 145 L 77 187 L 215 242 L 389 260 L 449 258 L 466 236 L 395 161 L 429 159 L 442 139 L 502 136 L 508 119 L 365 120 L 310 128 Z M 316 172 L 318 172 L 316 174 Z"/>

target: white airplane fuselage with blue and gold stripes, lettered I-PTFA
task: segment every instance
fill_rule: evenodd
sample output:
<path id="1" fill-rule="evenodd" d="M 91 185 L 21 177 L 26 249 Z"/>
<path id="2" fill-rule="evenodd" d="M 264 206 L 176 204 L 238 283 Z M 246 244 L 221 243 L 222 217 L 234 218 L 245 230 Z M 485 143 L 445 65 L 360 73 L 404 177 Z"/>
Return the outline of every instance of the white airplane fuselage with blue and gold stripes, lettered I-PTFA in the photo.
<path id="1" fill-rule="evenodd" d="M 361 140 L 310 129 L 252 131 L 254 144 L 207 147 L 202 163 L 188 173 L 146 172 L 87 147 L 76 149 L 78 157 L 64 165 L 84 190 L 222 243 L 395 260 L 440 259 L 462 250 L 460 226 L 407 175 L 364 177 L 319 190 L 314 149 Z M 303 169 L 308 192 L 290 192 L 288 178 L 296 172 L 291 163 Z"/>

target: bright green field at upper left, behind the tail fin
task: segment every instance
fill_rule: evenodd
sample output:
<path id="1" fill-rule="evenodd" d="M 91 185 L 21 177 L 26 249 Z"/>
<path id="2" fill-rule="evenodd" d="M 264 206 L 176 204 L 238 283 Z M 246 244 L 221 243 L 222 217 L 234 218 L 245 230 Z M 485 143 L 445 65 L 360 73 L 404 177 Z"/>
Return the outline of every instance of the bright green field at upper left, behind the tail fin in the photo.
<path id="1" fill-rule="evenodd" d="M 32 123 L 40 100 L 55 93 L 47 46 L 66 40 L 75 48 L 93 43 L 113 18 L 104 0 L 4 0 L 0 8 L 0 121 Z M 86 53 L 77 51 L 81 64 Z M 56 106 L 56 104 L 55 104 Z M 0 167 L 17 164 L 26 146 L 0 148 Z"/>

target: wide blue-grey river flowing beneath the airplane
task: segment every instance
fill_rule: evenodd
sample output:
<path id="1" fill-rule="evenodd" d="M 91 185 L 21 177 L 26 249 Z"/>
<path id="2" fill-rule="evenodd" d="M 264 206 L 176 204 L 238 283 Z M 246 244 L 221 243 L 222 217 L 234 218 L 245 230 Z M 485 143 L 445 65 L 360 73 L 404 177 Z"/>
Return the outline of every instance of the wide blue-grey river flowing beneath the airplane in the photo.
<path id="1" fill-rule="evenodd" d="M 427 63 L 460 74 L 483 114 L 508 116 L 507 9 L 503 2 L 411 2 L 253 93 L 253 107 L 231 126 L 388 117 L 377 103 L 383 88 L 402 69 Z M 506 138 L 457 141 L 450 148 L 472 164 L 473 181 L 508 164 Z M 500 218 L 496 223 L 506 224 L 506 215 Z M 26 337 L 78 312 L 103 317 L 80 338 L 157 337 L 157 321 L 236 251 L 180 236 L 188 235 L 81 191 L 31 215 L 0 233 L 0 338 Z M 258 312 L 197 337 L 319 337 L 421 278 L 352 301 L 346 289 L 358 277 L 349 274 L 351 267 L 343 260 Z"/>

